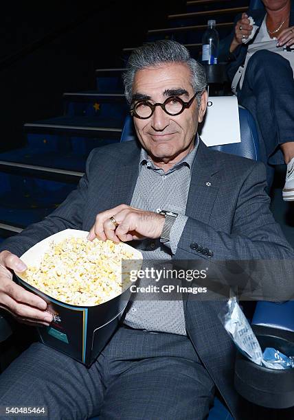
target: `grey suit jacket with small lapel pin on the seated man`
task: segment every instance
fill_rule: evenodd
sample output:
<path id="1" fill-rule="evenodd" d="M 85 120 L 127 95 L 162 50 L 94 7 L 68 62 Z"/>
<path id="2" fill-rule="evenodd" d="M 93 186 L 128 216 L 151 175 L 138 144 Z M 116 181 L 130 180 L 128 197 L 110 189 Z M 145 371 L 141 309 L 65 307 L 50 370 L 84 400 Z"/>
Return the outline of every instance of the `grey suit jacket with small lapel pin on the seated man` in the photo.
<path id="1" fill-rule="evenodd" d="M 3 242 L 0 250 L 8 249 L 20 256 L 53 233 L 63 229 L 88 231 L 97 213 L 122 203 L 129 205 L 138 175 L 139 154 L 135 141 L 93 150 L 78 188 L 65 202 L 42 222 Z M 188 222 L 174 259 L 198 259 L 205 263 L 227 259 L 293 261 L 293 249 L 269 211 L 265 179 L 262 163 L 216 152 L 200 141 L 186 208 Z M 212 250 L 212 258 L 191 248 L 195 242 Z M 264 287 L 270 294 L 276 291 L 277 284 L 284 292 L 280 299 L 293 291 L 284 275 L 278 279 L 274 276 Z M 241 419 L 240 398 L 233 384 L 236 348 L 218 320 L 224 305 L 225 302 L 199 301 L 188 296 L 184 304 L 186 327 L 229 409 Z"/>

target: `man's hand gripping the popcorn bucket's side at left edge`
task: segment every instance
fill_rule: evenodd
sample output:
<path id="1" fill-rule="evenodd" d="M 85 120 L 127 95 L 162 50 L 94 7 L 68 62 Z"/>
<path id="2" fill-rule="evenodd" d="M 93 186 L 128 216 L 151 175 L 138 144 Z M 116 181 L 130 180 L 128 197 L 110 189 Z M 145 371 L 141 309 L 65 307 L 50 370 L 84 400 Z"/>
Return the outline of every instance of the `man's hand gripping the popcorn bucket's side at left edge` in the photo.
<path id="1" fill-rule="evenodd" d="M 26 268 L 23 261 L 8 250 L 0 253 L 0 307 L 10 312 L 20 323 L 35 327 L 49 326 L 53 317 L 46 312 L 45 300 L 27 292 L 12 279 L 12 270 L 23 272 Z"/>

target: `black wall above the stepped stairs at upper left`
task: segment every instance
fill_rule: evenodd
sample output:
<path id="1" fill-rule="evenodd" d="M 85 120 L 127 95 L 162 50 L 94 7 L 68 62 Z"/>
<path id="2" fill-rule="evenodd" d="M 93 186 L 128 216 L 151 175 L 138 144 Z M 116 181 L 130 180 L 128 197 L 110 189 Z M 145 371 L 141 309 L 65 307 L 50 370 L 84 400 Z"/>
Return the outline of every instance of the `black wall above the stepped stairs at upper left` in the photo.
<path id="1" fill-rule="evenodd" d="M 0 151 L 25 143 L 23 124 L 63 112 L 65 91 L 95 89 L 95 69 L 122 67 L 168 1 L 21 1 L 1 5 Z"/>

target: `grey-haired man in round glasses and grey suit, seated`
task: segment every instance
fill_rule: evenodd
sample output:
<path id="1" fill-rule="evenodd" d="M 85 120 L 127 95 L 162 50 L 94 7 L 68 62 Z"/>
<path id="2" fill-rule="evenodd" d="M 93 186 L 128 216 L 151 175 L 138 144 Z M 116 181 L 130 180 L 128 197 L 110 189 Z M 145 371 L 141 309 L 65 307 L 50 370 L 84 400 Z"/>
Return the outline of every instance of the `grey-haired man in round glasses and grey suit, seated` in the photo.
<path id="1" fill-rule="evenodd" d="M 1 244 L 0 306 L 20 322 L 50 319 L 43 299 L 14 284 L 11 271 L 24 269 L 25 250 L 67 228 L 90 231 L 89 240 L 133 241 L 146 260 L 293 261 L 269 211 L 264 165 L 210 150 L 197 135 L 206 79 L 188 50 L 171 40 L 136 49 L 124 85 L 138 141 L 93 150 L 65 202 Z M 287 300 L 286 281 L 273 272 L 264 294 Z M 45 405 L 54 420 L 202 420 L 218 389 L 234 418 L 247 419 L 233 383 L 236 348 L 218 319 L 224 307 L 135 296 L 89 369 L 34 343 L 1 374 L 0 405 Z"/>

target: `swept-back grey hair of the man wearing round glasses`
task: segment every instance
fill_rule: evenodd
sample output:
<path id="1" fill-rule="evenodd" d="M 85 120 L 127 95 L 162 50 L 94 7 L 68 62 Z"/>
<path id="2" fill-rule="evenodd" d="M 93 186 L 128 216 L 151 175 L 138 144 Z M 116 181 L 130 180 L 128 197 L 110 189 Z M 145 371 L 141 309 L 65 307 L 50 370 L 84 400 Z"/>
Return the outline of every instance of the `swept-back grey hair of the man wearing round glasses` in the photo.
<path id="1" fill-rule="evenodd" d="M 146 43 L 136 48 L 128 58 L 126 72 L 124 73 L 124 94 L 128 104 L 132 102 L 133 82 L 135 73 L 146 67 L 157 67 L 170 62 L 183 63 L 191 73 L 190 83 L 196 99 L 200 104 L 201 95 L 206 87 L 206 74 L 204 67 L 190 57 L 186 47 L 174 40 L 157 40 L 153 43 Z"/>

